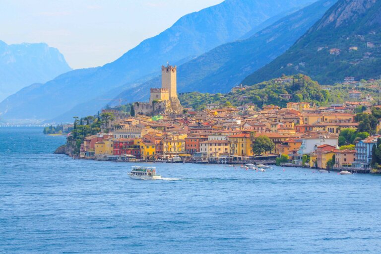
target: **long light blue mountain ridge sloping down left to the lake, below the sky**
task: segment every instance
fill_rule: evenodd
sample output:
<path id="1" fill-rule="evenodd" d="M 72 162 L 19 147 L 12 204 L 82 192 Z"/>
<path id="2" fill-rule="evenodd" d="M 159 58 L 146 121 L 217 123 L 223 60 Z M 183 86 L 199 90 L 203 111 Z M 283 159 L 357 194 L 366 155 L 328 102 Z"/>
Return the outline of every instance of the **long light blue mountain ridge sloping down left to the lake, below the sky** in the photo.
<path id="1" fill-rule="evenodd" d="M 52 119 L 81 103 L 85 107 L 77 107 L 75 114 L 93 114 L 110 99 L 104 97 L 110 91 L 117 88 L 121 91 L 149 80 L 160 73 L 160 66 L 167 61 L 182 64 L 237 40 L 268 18 L 307 1 L 310 0 L 225 0 L 182 17 L 111 64 L 74 70 L 8 97 L 0 104 L 1 117 Z"/>

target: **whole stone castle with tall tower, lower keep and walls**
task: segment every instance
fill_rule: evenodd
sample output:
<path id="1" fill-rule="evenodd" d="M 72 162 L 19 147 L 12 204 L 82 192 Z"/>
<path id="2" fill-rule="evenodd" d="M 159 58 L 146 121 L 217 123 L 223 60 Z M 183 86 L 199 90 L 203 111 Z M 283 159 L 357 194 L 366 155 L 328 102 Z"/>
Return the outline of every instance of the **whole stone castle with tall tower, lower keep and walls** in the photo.
<path id="1" fill-rule="evenodd" d="M 165 113 L 180 114 L 183 107 L 177 97 L 176 66 L 161 66 L 161 88 L 151 88 L 149 102 L 135 102 L 135 114 L 158 115 Z"/>

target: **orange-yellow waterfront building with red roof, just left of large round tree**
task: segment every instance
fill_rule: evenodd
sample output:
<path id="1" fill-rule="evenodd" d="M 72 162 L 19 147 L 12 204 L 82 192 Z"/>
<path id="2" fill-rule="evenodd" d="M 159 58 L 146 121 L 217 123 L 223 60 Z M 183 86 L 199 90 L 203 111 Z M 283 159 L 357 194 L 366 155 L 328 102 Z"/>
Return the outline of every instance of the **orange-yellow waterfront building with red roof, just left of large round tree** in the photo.
<path id="1" fill-rule="evenodd" d="M 229 152 L 234 156 L 253 156 L 253 143 L 250 133 L 228 136 Z"/>

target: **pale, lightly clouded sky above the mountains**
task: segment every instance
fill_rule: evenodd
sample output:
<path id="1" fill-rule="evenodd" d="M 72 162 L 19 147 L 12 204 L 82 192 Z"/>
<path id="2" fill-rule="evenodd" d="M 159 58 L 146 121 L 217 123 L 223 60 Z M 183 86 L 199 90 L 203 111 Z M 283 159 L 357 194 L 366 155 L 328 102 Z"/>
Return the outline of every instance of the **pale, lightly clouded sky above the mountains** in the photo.
<path id="1" fill-rule="evenodd" d="M 185 14 L 223 0 L 0 0 L 0 40 L 47 43 L 74 69 L 101 66 Z"/>

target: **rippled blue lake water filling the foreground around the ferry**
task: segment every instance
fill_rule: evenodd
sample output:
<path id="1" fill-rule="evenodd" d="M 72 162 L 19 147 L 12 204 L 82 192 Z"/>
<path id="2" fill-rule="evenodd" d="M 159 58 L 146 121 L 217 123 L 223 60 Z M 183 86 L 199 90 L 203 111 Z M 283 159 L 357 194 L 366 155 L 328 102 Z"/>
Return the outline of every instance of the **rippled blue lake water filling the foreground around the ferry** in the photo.
<path id="1" fill-rule="evenodd" d="M 64 137 L 0 127 L 0 253 L 380 253 L 381 177 L 72 160 Z"/>

